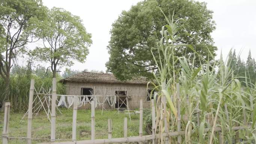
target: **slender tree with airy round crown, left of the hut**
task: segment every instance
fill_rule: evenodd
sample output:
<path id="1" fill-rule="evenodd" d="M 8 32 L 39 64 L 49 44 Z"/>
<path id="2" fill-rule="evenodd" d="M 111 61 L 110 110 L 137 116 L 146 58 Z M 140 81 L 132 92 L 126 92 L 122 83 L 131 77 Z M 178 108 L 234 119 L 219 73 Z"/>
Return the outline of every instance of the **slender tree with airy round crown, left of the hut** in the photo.
<path id="1" fill-rule="evenodd" d="M 57 66 L 73 65 L 72 60 L 84 62 L 91 45 L 91 34 L 86 32 L 82 20 L 61 8 L 52 8 L 48 18 L 36 31 L 43 47 L 37 47 L 32 55 L 39 61 L 51 64 L 53 77 Z"/>

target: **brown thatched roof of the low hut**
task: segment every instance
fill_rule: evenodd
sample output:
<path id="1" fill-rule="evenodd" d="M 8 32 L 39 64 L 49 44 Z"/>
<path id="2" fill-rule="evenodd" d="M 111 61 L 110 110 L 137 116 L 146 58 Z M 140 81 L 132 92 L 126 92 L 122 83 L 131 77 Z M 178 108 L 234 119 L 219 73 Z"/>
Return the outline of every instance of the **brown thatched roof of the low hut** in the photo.
<path id="1" fill-rule="evenodd" d="M 147 84 L 146 77 L 136 77 L 132 80 L 121 81 L 110 73 L 90 73 L 82 72 L 60 80 L 61 82 L 97 82 L 97 83 L 127 83 L 127 84 Z"/>

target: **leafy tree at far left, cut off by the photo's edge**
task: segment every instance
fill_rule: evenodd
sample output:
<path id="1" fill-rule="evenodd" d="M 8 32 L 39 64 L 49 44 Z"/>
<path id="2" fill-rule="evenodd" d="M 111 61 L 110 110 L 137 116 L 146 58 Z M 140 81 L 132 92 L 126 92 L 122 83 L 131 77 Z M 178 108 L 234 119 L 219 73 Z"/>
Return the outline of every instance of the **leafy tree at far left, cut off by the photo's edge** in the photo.
<path id="1" fill-rule="evenodd" d="M 41 0 L 0 1 L 0 76 L 6 85 L 5 100 L 9 99 L 12 59 L 34 42 L 36 22 L 41 21 L 46 7 Z"/>

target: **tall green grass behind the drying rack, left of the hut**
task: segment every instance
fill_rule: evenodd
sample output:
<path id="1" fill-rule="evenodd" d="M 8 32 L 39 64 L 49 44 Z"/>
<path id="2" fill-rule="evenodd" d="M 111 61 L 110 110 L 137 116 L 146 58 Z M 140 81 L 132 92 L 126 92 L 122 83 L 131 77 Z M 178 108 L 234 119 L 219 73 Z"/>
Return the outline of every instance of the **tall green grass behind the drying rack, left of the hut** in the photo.
<path id="1" fill-rule="evenodd" d="M 9 101 L 11 102 L 13 111 L 26 111 L 28 109 L 30 80 L 32 78 L 35 79 L 34 87 L 37 92 L 39 92 L 42 86 L 46 90 L 49 90 L 52 87 L 52 74 L 41 77 L 40 75 L 36 75 L 28 67 L 20 66 L 16 66 L 14 70 L 10 76 Z M 61 77 L 57 75 L 57 80 L 60 79 Z M 5 99 L 5 88 L 5 82 L 0 78 L 0 102 Z M 65 86 L 62 83 L 57 83 L 57 94 L 65 94 Z"/>

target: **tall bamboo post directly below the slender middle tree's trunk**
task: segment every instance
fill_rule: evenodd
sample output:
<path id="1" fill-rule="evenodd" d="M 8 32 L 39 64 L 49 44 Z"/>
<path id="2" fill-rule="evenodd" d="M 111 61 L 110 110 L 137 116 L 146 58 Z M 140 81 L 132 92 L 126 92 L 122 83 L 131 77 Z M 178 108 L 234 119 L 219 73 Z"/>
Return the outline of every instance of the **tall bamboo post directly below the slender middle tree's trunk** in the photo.
<path id="1" fill-rule="evenodd" d="M 56 130 L 56 91 L 57 91 L 56 78 L 52 78 L 52 113 L 51 113 L 51 141 L 55 141 L 55 130 Z"/>

